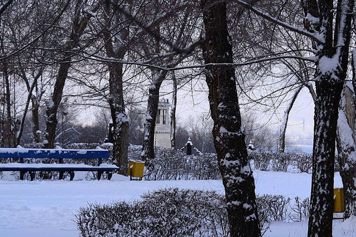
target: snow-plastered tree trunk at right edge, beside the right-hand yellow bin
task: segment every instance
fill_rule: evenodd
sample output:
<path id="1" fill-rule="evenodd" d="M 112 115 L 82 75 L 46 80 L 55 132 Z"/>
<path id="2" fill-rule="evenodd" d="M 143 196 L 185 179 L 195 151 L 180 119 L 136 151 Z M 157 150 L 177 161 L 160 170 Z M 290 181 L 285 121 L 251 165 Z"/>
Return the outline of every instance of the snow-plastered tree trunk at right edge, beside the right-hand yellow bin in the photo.
<path id="1" fill-rule="evenodd" d="M 350 116 L 348 116 L 350 115 Z M 344 187 L 344 217 L 356 216 L 355 95 L 344 87 L 337 121 L 337 151 Z"/>

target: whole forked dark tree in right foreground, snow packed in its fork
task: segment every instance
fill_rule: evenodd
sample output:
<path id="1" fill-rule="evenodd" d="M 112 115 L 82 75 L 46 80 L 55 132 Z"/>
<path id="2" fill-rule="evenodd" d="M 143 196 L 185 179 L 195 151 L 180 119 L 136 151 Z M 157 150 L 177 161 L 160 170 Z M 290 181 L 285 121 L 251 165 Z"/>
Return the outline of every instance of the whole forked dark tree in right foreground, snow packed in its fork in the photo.
<path id="1" fill-rule="evenodd" d="M 302 1 L 307 31 L 317 50 L 313 174 L 308 236 L 332 236 L 336 126 L 345 82 L 354 0 Z M 335 19 L 334 19 L 335 15 Z M 333 23 L 335 21 L 335 26 Z"/>

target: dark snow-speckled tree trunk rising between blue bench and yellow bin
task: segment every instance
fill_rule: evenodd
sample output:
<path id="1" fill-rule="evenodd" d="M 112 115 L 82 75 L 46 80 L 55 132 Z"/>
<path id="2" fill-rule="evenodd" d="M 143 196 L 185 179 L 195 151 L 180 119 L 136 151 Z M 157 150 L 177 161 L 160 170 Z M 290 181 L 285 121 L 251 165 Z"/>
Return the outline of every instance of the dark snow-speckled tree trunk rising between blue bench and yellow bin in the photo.
<path id="1" fill-rule="evenodd" d="M 122 60 L 128 49 L 129 29 L 126 26 L 129 22 L 122 19 L 121 14 L 111 7 L 116 5 L 105 4 L 105 25 L 103 31 L 105 51 L 108 58 Z M 112 19 L 111 19 L 112 18 Z M 114 24 L 113 24 L 114 22 Z M 124 23 L 122 23 L 124 22 Z M 112 26 L 120 26 L 119 32 L 111 32 Z M 115 29 L 115 27 L 113 27 Z M 114 40 L 112 40 L 114 39 Z M 123 64 L 116 62 L 106 63 L 109 69 L 109 97 L 110 112 L 114 127 L 114 146 L 112 163 L 119 167 L 119 173 L 127 174 L 127 151 L 129 147 L 129 119 L 125 112 L 124 92 L 123 92 Z"/>

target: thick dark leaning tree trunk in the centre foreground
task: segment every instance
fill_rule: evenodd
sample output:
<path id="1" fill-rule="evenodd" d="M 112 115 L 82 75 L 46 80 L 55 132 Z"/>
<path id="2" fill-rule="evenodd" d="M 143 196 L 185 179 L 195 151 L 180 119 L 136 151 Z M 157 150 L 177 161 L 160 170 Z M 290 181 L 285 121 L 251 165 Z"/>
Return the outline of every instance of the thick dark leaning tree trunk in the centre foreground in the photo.
<path id="1" fill-rule="evenodd" d="M 201 0 L 205 35 L 203 57 L 209 63 L 233 63 L 227 31 L 226 2 Z M 213 136 L 225 188 L 230 236 L 261 236 L 255 183 L 248 162 L 244 128 L 231 66 L 206 66 L 209 103 L 214 121 Z"/>

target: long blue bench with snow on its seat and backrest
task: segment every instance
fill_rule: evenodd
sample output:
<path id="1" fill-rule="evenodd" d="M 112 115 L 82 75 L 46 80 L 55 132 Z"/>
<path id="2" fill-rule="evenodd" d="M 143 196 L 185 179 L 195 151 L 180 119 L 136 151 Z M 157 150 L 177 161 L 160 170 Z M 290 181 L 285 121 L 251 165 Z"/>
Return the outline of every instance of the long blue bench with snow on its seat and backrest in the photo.
<path id="1" fill-rule="evenodd" d="M 0 148 L 0 158 L 17 159 L 20 162 L 0 164 L 0 171 L 19 171 L 20 179 L 23 180 L 25 173 L 30 174 L 31 181 L 35 178 L 35 172 L 59 172 L 59 179 L 63 179 L 64 173 L 69 173 L 70 181 L 74 178 L 74 171 L 98 172 L 97 178 L 100 180 L 104 172 L 108 179 L 112 177 L 112 172 L 119 169 L 116 165 L 104 164 L 103 160 L 108 160 L 109 151 L 105 149 L 26 149 Z M 25 163 L 26 158 L 35 159 L 58 159 L 58 163 Z M 85 164 L 66 164 L 64 159 L 98 159 L 98 166 Z"/>

